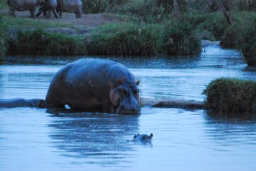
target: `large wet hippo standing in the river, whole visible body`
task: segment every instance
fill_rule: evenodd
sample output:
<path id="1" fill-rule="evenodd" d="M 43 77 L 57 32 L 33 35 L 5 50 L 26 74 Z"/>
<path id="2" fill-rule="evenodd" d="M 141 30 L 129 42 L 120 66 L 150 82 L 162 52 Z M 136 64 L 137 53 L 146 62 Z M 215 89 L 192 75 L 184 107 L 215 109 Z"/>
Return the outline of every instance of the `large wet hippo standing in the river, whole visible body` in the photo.
<path id="1" fill-rule="evenodd" d="M 61 68 L 49 86 L 46 108 L 140 114 L 140 81 L 122 64 L 79 59 Z"/>

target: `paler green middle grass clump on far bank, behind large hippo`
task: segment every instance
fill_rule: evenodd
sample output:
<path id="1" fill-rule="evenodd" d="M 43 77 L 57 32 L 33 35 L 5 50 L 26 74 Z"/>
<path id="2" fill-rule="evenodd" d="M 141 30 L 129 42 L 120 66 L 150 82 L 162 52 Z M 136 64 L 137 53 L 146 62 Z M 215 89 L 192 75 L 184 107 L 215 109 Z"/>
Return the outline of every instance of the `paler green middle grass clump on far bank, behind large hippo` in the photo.
<path id="1" fill-rule="evenodd" d="M 162 43 L 159 25 L 132 22 L 108 24 L 92 33 L 88 52 L 93 55 L 148 56 L 157 54 Z"/>

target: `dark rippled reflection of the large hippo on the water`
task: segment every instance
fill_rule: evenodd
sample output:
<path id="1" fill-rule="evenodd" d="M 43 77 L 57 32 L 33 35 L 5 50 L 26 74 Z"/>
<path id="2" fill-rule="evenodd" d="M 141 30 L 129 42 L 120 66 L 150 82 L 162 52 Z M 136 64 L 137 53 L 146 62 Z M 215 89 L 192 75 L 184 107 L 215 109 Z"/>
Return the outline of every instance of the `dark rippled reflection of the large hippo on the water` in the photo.
<path id="1" fill-rule="evenodd" d="M 54 112 L 52 117 L 63 117 L 49 124 L 50 137 L 58 140 L 53 144 L 77 158 L 102 156 L 115 164 L 132 151 L 125 138 L 138 132 L 138 115 Z"/>

